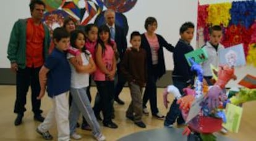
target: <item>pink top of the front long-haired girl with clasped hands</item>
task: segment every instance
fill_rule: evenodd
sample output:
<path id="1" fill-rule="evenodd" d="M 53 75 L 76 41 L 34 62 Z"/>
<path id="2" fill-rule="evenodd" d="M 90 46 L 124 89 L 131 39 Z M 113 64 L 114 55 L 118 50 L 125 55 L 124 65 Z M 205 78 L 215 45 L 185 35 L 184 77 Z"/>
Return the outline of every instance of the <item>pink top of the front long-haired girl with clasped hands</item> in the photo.
<path id="1" fill-rule="evenodd" d="M 105 46 L 106 46 L 106 49 L 105 49 L 104 54 L 102 55 L 102 61 L 103 61 L 104 65 L 106 66 L 106 68 L 108 69 L 108 71 L 112 71 L 113 70 L 114 50 L 108 44 L 105 44 Z M 109 78 L 97 66 L 96 71 L 94 73 L 94 80 L 95 81 L 109 81 Z M 111 81 L 113 81 L 113 79 Z"/>

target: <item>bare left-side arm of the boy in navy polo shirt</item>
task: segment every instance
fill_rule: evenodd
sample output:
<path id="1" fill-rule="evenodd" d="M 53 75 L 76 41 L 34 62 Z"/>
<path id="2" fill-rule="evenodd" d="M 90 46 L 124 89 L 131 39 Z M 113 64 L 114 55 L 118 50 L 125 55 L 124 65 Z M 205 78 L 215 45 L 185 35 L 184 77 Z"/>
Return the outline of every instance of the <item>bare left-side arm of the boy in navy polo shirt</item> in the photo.
<path id="1" fill-rule="evenodd" d="M 49 69 L 46 68 L 45 65 L 43 65 L 41 70 L 39 71 L 39 83 L 40 83 L 41 91 L 38 97 L 36 97 L 36 99 L 41 99 L 45 95 L 46 80 L 47 80 L 48 72 L 49 72 Z"/>

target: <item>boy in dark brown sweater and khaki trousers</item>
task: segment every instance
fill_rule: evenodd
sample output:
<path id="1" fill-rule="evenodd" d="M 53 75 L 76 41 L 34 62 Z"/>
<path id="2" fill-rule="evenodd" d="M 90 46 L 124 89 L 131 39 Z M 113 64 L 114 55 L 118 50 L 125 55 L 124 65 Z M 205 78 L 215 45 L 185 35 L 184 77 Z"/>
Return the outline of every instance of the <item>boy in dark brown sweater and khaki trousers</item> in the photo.
<path id="1" fill-rule="evenodd" d="M 146 125 L 142 121 L 142 87 L 146 83 L 146 51 L 140 47 L 141 36 L 138 31 L 130 35 L 132 47 L 127 50 L 121 62 L 121 72 L 129 82 L 132 102 L 126 111 L 126 117 L 142 128 Z"/>

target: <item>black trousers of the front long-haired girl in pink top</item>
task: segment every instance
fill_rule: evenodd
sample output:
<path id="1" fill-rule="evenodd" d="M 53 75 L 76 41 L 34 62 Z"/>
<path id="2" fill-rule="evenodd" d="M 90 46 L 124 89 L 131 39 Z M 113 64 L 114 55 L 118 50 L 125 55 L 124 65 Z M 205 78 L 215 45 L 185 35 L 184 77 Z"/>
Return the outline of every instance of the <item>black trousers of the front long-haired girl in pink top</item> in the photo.
<path id="1" fill-rule="evenodd" d="M 98 94 L 100 94 L 100 103 L 102 105 L 103 124 L 112 122 L 112 102 L 114 98 L 114 81 L 95 81 Z"/>

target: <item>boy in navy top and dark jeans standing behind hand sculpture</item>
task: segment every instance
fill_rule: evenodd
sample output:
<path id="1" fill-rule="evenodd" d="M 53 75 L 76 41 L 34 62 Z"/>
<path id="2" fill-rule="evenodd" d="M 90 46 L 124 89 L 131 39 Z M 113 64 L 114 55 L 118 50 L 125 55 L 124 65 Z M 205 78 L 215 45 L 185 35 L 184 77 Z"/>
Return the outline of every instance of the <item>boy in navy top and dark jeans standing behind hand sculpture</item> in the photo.
<path id="1" fill-rule="evenodd" d="M 182 89 L 191 84 L 194 84 L 194 75 L 190 70 L 189 63 L 187 63 L 185 54 L 193 51 L 193 47 L 190 45 L 191 40 L 194 36 L 194 24 L 191 22 L 184 23 L 180 30 L 179 34 L 181 39 L 177 42 L 174 47 L 173 52 L 173 61 L 174 61 L 174 70 L 173 70 L 173 85 L 179 89 L 181 94 L 184 94 Z M 166 115 L 164 126 L 173 127 L 177 119 L 177 125 L 182 125 L 185 123 L 181 115 L 181 110 L 179 110 L 179 105 L 176 103 L 177 99 L 173 100 L 171 108 Z"/>

